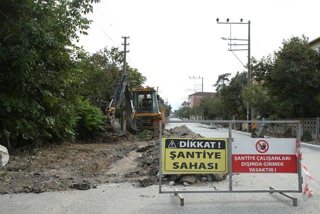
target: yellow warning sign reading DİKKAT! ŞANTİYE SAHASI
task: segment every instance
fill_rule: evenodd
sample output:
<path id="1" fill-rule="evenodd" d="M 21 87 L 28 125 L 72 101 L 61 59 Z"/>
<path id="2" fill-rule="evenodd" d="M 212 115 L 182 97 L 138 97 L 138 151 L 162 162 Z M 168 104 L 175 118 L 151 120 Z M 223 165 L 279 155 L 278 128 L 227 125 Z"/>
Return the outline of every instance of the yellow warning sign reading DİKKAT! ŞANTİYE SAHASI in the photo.
<path id="1" fill-rule="evenodd" d="M 162 174 L 227 172 L 226 138 L 162 138 Z"/>

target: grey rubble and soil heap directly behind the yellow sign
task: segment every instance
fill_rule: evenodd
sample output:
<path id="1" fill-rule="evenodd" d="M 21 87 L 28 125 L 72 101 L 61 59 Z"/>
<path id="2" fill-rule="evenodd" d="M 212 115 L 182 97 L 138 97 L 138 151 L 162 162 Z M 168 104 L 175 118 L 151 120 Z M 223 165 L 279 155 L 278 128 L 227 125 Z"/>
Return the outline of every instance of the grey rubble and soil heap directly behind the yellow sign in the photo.
<path id="1" fill-rule="evenodd" d="M 199 138 L 199 134 L 194 133 L 185 125 L 177 126 L 168 130 L 163 134 L 163 137 L 183 137 L 183 138 Z M 142 152 L 137 158 L 138 166 L 144 170 L 144 174 L 148 175 L 147 178 L 140 180 L 142 186 L 152 185 L 157 182 L 157 173 L 159 170 L 159 140 L 154 139 L 148 145 L 140 147 L 136 150 Z M 226 178 L 225 174 L 172 174 L 163 175 L 162 181 L 172 183 L 190 183 L 204 182 L 204 181 L 219 181 Z"/>

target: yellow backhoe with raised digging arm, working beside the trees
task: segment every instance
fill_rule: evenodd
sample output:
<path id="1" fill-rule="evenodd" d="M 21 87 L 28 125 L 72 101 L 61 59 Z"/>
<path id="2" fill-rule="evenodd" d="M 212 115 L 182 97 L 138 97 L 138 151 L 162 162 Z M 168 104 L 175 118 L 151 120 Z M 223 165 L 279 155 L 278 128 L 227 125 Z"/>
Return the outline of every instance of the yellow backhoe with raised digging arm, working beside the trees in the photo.
<path id="1" fill-rule="evenodd" d="M 106 111 L 106 129 L 109 132 L 122 132 L 115 111 L 119 108 L 121 101 L 125 98 L 126 129 L 137 134 L 142 130 L 155 130 L 159 122 L 164 123 L 164 108 L 159 111 L 159 95 L 154 88 L 129 88 L 129 77 L 122 74 L 114 91 L 113 99 Z M 163 124 L 164 125 L 164 124 Z M 164 127 L 163 127 L 164 128 Z"/>

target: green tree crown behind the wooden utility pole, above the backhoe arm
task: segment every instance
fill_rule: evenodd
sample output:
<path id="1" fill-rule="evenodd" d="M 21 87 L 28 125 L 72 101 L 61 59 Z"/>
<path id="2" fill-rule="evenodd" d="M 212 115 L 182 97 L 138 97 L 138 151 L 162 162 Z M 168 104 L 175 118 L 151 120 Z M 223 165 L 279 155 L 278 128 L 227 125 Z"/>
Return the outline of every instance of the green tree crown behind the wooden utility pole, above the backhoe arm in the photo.
<path id="1" fill-rule="evenodd" d="M 123 73 L 121 51 L 105 47 L 82 60 L 79 68 L 77 78 L 82 83 L 79 88 L 81 96 L 104 110 Z M 142 87 L 146 78 L 137 69 L 126 65 L 126 73 L 130 78 L 130 88 Z"/>

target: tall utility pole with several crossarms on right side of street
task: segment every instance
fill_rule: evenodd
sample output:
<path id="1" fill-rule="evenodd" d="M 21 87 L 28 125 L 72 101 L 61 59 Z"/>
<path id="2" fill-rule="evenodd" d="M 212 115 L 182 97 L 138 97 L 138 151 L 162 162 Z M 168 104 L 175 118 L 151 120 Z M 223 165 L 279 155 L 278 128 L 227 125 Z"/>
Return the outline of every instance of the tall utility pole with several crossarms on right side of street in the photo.
<path id="1" fill-rule="evenodd" d="M 247 51 L 248 52 L 248 56 L 247 56 L 247 64 L 246 64 L 246 69 L 247 69 L 247 87 L 249 89 L 250 87 L 250 84 L 251 84 L 251 70 L 250 70 L 250 67 L 251 67 L 251 61 L 250 61 L 250 20 L 247 22 L 247 23 L 243 23 L 242 22 L 243 19 L 240 19 L 240 22 L 229 22 L 229 19 L 226 19 L 226 22 L 219 22 L 219 19 L 216 19 L 216 23 L 217 24 L 229 24 L 230 25 L 230 38 L 226 39 L 224 37 L 221 37 L 222 40 L 229 40 L 230 41 L 230 44 L 228 44 L 228 46 L 230 46 L 230 48 L 228 49 L 228 51 L 231 51 L 232 54 L 236 57 L 236 59 L 239 60 L 239 58 L 233 53 L 233 51 Z M 245 40 L 245 39 L 232 39 L 231 38 L 231 25 L 232 24 L 244 24 L 244 25 L 248 25 L 248 39 Z M 232 44 L 232 41 L 247 41 L 247 44 Z M 234 46 L 247 46 L 247 49 L 233 49 Z M 239 60 L 240 63 L 243 65 L 243 67 L 245 67 L 245 65 L 241 62 L 241 60 Z M 252 108 L 249 107 L 247 105 L 247 108 L 246 108 L 246 119 L 247 120 L 252 120 Z M 249 123 L 250 124 L 250 123 Z M 248 125 L 249 125 L 248 124 Z M 248 132 L 250 132 L 250 128 L 247 129 Z"/>

